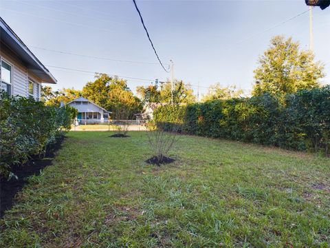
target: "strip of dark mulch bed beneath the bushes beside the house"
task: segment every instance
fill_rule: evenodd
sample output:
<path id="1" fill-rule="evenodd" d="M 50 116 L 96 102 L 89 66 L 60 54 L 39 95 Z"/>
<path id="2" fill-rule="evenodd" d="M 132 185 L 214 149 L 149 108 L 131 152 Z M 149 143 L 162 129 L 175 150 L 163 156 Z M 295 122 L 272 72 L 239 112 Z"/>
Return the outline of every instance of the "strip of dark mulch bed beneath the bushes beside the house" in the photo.
<path id="1" fill-rule="evenodd" d="M 52 158 L 55 153 L 61 148 L 64 137 L 59 139 L 54 145 L 47 147 L 45 158 L 33 156 L 30 161 L 23 165 L 16 165 L 12 167 L 18 179 L 12 177 L 10 180 L 7 178 L 0 178 L 0 217 L 3 216 L 5 210 L 8 210 L 14 204 L 14 197 L 17 192 L 21 191 L 23 186 L 28 183 L 26 178 L 32 175 L 39 175 L 41 169 L 48 165 L 52 165 Z"/>

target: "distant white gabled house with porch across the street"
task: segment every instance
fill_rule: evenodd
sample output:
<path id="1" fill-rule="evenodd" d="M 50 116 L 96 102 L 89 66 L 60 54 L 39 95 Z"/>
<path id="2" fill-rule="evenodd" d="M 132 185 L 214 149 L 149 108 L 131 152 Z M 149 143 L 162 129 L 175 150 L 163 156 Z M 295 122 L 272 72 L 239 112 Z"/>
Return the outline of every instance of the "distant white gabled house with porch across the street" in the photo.
<path id="1" fill-rule="evenodd" d="M 78 110 L 77 120 L 80 124 L 104 123 L 104 121 L 109 120 L 109 114 L 111 114 L 111 112 L 104 110 L 103 107 L 85 99 L 83 96 L 70 101 L 67 105 Z"/>

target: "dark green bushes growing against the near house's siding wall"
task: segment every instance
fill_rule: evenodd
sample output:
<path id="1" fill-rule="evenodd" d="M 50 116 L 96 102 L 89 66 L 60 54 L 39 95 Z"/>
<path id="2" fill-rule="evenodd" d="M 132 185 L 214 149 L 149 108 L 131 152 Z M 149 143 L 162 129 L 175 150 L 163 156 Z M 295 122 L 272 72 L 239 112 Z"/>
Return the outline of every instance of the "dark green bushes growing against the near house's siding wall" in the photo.
<path id="1" fill-rule="evenodd" d="M 0 92 L 0 176 L 8 177 L 13 165 L 43 154 L 70 129 L 76 110 L 45 106 L 41 101 Z"/>

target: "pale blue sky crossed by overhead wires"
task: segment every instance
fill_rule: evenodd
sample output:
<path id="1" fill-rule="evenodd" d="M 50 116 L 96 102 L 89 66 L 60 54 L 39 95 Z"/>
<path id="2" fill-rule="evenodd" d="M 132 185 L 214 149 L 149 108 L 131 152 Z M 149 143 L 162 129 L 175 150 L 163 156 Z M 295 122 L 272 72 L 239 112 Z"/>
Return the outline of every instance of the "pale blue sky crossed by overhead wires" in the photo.
<path id="1" fill-rule="evenodd" d="M 175 62 L 175 78 L 200 92 L 210 84 L 250 91 L 258 56 L 272 36 L 284 34 L 309 45 L 305 1 L 139 1 L 144 21 L 164 63 Z M 314 49 L 330 81 L 330 9 L 314 8 Z M 5 1 L 0 15 L 45 64 L 140 79 L 170 75 L 157 64 L 124 63 L 58 54 L 61 50 L 109 59 L 157 63 L 132 1 Z M 49 67 L 58 85 L 81 89 L 93 74 Z M 148 81 L 129 79 L 129 87 Z M 195 92 L 197 88 L 193 87 Z"/>

